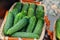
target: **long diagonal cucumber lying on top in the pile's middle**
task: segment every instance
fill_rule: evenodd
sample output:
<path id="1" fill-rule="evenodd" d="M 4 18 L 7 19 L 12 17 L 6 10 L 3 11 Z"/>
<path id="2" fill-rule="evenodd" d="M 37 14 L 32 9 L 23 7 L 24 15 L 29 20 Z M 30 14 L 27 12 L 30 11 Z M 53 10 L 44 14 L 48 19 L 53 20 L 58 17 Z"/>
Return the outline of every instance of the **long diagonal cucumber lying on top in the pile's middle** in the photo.
<path id="1" fill-rule="evenodd" d="M 7 34 L 11 35 L 11 34 L 15 33 L 16 31 L 21 30 L 23 27 L 25 27 L 27 25 L 27 23 L 28 23 L 28 18 L 24 17 L 17 24 L 15 24 L 13 27 L 11 27 L 7 31 Z"/>

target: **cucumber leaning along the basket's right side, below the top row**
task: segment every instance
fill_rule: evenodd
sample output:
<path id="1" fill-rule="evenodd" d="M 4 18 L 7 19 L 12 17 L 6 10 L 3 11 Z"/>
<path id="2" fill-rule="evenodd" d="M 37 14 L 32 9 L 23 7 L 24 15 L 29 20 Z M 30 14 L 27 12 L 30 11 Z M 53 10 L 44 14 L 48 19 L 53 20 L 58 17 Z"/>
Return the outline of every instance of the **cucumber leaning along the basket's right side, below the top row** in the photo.
<path id="1" fill-rule="evenodd" d="M 36 34 L 40 35 L 41 32 L 42 32 L 43 26 L 44 26 L 44 20 L 43 19 L 39 19 L 37 24 L 36 24 L 36 27 L 35 27 L 33 33 L 36 33 Z"/>

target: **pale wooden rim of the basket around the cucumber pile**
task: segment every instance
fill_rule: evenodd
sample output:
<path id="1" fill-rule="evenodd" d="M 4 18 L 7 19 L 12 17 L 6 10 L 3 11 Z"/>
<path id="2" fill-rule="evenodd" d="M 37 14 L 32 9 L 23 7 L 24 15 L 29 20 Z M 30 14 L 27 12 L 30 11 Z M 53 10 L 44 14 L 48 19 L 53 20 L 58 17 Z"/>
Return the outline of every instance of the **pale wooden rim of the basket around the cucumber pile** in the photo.
<path id="1" fill-rule="evenodd" d="M 37 4 L 37 3 L 36 3 L 36 4 Z M 16 3 L 14 3 L 14 4 L 12 5 L 12 7 L 10 8 L 9 11 L 11 11 L 11 10 L 14 8 L 15 5 L 16 5 Z M 46 15 L 46 7 L 45 7 L 43 4 L 37 4 L 37 5 L 42 5 L 42 6 L 44 7 L 44 13 L 45 13 L 44 16 L 47 16 L 47 15 Z M 34 39 L 31 39 L 31 38 L 15 38 L 15 37 L 5 36 L 5 35 L 3 34 L 3 27 L 4 27 L 4 24 L 5 24 L 5 22 L 6 22 L 7 14 L 8 14 L 8 12 L 6 12 L 4 21 L 3 21 L 2 25 L 1 25 L 1 28 L 0 28 L 0 38 L 1 38 L 2 40 L 36 40 L 35 38 L 34 38 Z M 46 23 L 44 22 L 44 26 L 43 26 L 43 28 L 42 28 L 42 32 L 41 32 L 40 38 L 39 38 L 38 40 L 43 40 L 44 35 L 45 35 L 45 30 L 46 30 Z"/>

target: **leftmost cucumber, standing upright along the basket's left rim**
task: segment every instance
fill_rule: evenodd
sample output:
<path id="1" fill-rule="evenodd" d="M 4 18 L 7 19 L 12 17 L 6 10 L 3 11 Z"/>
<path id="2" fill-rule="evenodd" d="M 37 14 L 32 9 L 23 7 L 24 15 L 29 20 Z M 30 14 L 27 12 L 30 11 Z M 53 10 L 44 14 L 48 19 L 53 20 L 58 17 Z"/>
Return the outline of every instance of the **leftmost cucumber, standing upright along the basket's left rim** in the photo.
<path id="1" fill-rule="evenodd" d="M 3 28 L 3 32 L 5 35 L 7 34 L 8 29 L 12 26 L 13 26 L 13 14 L 8 12 L 8 16 L 6 18 L 6 23 Z"/>

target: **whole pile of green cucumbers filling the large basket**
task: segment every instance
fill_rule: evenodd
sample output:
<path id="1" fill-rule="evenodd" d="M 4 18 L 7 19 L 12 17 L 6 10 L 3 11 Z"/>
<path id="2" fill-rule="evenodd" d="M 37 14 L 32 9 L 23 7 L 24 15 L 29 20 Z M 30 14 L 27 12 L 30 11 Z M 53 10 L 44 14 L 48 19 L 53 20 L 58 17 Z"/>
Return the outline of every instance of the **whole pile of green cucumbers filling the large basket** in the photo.
<path id="1" fill-rule="evenodd" d="M 8 12 L 3 28 L 5 36 L 39 38 L 44 26 L 44 7 L 17 2 Z"/>

